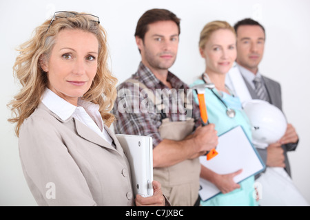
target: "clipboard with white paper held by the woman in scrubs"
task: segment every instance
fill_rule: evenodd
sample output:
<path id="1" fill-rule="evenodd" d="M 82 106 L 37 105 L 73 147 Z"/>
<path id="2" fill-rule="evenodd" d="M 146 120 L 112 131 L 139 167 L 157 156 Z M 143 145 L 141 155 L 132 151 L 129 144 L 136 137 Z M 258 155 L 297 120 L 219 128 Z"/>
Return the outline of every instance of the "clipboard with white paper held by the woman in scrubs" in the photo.
<path id="1" fill-rule="evenodd" d="M 242 172 L 234 177 L 236 183 L 265 170 L 262 158 L 241 126 L 220 135 L 216 151 L 218 155 L 208 161 L 206 156 L 200 156 L 200 164 L 219 174 L 233 173 L 242 168 Z M 199 195 L 203 201 L 219 193 L 220 190 L 214 184 L 200 178 Z"/>

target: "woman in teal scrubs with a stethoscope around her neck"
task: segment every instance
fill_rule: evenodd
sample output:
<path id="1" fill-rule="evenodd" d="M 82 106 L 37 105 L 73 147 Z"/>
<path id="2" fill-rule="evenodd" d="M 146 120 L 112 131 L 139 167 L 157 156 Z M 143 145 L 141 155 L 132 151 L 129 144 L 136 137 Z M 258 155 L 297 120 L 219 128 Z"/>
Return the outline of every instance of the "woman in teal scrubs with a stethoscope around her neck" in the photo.
<path id="1" fill-rule="evenodd" d="M 251 140 L 251 128 L 247 116 L 242 111 L 238 97 L 231 93 L 225 85 L 225 77 L 236 60 L 236 32 L 225 21 L 207 23 L 200 33 L 200 55 L 205 58 L 205 73 L 193 84 L 214 83 L 214 89 L 205 89 L 205 103 L 210 123 L 215 124 L 218 135 L 242 126 Z M 194 100 L 198 103 L 197 95 Z M 215 184 L 220 194 L 201 201 L 202 206 L 258 206 L 254 198 L 254 176 L 248 177 L 239 184 L 234 176 L 242 170 L 227 175 L 219 175 L 205 166 L 201 167 L 200 177 Z"/>

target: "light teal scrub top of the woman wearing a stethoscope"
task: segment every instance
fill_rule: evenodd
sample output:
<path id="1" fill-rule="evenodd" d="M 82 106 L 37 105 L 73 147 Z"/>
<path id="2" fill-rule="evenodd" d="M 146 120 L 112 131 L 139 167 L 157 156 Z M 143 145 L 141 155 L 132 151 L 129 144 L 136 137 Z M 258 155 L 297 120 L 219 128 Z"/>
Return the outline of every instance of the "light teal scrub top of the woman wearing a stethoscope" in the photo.
<path id="1" fill-rule="evenodd" d="M 203 80 L 196 80 L 191 87 L 204 83 Z M 216 89 L 214 89 L 214 91 L 218 94 Z M 199 104 L 196 92 L 193 92 L 193 94 L 195 102 Z M 220 97 L 220 94 L 218 94 L 218 96 Z M 205 103 L 207 106 L 208 120 L 215 125 L 218 135 L 233 129 L 236 126 L 242 126 L 247 137 L 251 140 L 251 126 L 249 124 L 249 119 L 242 109 L 235 109 L 226 103 L 228 107 L 236 111 L 236 116 L 234 118 L 229 118 L 226 114 L 227 109 L 225 105 L 212 93 L 211 89 L 205 89 Z M 240 188 L 225 194 L 220 192 L 218 195 L 207 201 L 200 201 L 200 204 L 202 206 L 258 206 L 258 202 L 254 198 L 254 175 L 241 181 L 239 184 Z"/>

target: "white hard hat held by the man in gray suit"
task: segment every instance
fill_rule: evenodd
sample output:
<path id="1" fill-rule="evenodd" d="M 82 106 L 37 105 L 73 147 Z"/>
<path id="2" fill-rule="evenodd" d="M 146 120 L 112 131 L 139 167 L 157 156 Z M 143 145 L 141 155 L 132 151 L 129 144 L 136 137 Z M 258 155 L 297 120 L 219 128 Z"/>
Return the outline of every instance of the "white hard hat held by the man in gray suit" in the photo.
<path id="1" fill-rule="evenodd" d="M 260 148 L 275 143 L 285 134 L 287 120 L 280 109 L 264 100 L 242 104 L 252 128 L 252 142 Z"/>

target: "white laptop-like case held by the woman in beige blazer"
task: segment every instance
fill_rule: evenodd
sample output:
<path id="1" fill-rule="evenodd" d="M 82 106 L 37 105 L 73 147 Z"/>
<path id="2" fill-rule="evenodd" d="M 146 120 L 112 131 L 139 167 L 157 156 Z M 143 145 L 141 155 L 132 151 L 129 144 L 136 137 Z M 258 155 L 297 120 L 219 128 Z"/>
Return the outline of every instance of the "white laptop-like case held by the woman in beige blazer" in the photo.
<path id="1" fill-rule="evenodd" d="M 153 195 L 153 142 L 152 137 L 117 134 L 123 151 L 130 163 L 134 195 Z"/>

